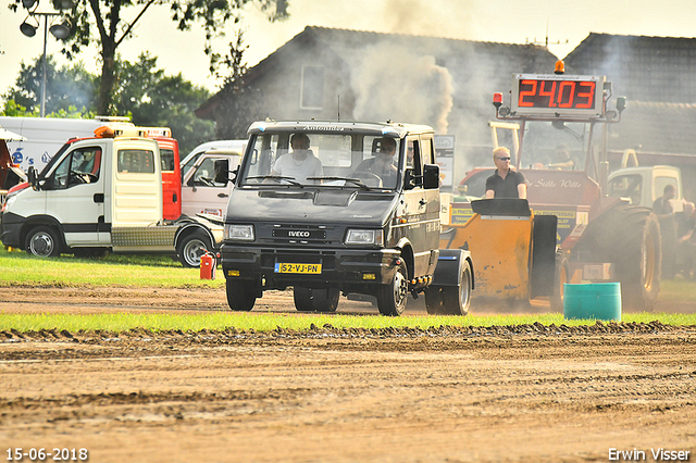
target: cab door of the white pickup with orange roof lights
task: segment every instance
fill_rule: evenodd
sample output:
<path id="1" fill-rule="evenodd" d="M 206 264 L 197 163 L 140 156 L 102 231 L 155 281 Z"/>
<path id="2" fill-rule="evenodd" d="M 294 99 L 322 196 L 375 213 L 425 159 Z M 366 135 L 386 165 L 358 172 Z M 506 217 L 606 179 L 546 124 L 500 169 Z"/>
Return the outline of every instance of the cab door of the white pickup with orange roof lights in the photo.
<path id="1" fill-rule="evenodd" d="M 44 185 L 46 213 L 61 223 L 69 247 L 110 241 L 104 221 L 104 149 L 100 143 L 75 148 Z"/>

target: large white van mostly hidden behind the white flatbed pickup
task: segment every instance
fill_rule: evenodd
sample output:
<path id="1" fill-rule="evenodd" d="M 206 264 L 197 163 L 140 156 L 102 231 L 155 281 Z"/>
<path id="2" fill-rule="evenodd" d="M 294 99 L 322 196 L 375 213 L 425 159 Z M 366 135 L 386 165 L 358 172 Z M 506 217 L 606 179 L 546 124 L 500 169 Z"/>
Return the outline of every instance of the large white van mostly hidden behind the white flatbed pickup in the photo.
<path id="1" fill-rule="evenodd" d="M 71 138 L 89 138 L 95 129 L 113 122 L 129 122 L 127 117 L 58 118 L 0 116 L 2 128 L 20 134 L 26 140 L 8 141 L 12 162 L 27 172 L 41 172 L 53 154 Z"/>

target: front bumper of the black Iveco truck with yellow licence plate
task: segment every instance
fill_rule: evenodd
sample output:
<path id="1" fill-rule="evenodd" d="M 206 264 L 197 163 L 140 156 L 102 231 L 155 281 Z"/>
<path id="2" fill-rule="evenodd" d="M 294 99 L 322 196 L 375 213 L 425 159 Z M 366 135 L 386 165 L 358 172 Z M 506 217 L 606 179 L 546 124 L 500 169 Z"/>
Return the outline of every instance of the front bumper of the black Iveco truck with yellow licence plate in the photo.
<path id="1" fill-rule="evenodd" d="M 344 291 L 365 292 L 366 287 L 376 288 L 377 285 L 391 281 L 400 251 L 323 248 L 298 250 L 223 243 L 221 255 L 226 278 L 261 283 L 263 289 L 331 286 Z M 283 264 L 299 265 L 288 268 L 288 265 Z"/>

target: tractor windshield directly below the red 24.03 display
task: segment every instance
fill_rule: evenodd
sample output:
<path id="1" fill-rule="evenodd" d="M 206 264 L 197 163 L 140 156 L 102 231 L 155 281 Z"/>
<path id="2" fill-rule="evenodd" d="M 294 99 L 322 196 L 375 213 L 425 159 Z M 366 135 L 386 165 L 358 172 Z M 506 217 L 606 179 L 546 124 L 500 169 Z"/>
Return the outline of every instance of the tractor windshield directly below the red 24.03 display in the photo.
<path id="1" fill-rule="evenodd" d="M 527 122 L 521 167 L 584 171 L 588 136 L 585 123 Z"/>

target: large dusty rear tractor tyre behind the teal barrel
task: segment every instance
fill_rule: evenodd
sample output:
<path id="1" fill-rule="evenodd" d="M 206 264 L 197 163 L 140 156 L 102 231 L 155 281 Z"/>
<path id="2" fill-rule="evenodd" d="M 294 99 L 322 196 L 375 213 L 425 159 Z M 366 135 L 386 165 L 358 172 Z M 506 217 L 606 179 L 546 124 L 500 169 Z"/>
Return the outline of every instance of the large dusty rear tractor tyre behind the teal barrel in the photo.
<path id="1" fill-rule="evenodd" d="M 619 204 L 591 222 L 577 246 L 597 262 L 612 262 L 624 311 L 652 311 L 660 291 L 660 226 L 638 205 Z"/>

